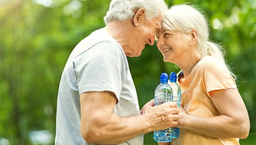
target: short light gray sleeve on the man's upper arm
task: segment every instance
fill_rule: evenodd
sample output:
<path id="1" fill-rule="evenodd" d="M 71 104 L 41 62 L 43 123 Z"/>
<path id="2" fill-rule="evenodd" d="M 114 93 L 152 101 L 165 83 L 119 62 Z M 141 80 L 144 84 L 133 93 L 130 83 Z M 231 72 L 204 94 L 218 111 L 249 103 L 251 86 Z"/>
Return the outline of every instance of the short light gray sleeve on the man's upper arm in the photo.
<path id="1" fill-rule="evenodd" d="M 119 100 L 125 64 L 122 52 L 110 41 L 100 42 L 74 59 L 79 95 L 89 91 L 111 91 Z"/>

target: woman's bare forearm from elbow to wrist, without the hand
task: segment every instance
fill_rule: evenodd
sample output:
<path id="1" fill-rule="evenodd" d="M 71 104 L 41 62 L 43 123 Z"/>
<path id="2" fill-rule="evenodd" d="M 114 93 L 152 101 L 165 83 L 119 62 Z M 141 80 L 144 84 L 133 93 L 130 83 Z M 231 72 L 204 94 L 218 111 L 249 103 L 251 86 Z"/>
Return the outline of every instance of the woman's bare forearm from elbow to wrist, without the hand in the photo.
<path id="1" fill-rule="evenodd" d="M 246 138 L 242 122 L 226 115 L 202 117 L 187 115 L 183 127 L 190 131 L 215 138 Z"/>

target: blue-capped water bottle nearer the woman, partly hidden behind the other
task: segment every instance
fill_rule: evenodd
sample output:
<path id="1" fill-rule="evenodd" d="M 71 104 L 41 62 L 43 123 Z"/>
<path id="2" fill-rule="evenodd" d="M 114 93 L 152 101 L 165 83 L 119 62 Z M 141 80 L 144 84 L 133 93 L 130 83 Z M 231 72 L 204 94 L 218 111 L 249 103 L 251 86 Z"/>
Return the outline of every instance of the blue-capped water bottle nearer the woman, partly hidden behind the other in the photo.
<path id="1" fill-rule="evenodd" d="M 170 74 L 170 81 L 168 81 L 169 86 L 172 88 L 173 101 L 176 102 L 177 106 L 180 107 L 180 96 L 181 90 L 180 86 L 176 83 L 177 75 L 176 73 Z M 179 128 L 172 128 L 172 138 L 177 138 L 180 134 Z"/>

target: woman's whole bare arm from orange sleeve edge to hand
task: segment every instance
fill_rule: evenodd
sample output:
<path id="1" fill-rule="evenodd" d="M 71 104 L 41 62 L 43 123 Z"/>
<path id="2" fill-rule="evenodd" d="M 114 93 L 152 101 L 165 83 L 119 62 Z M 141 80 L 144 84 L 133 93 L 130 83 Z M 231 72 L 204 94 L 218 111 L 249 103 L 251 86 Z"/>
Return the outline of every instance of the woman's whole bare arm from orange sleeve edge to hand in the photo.
<path id="1" fill-rule="evenodd" d="M 250 130 L 249 116 L 236 89 L 209 92 L 219 116 L 190 115 L 180 108 L 178 127 L 215 138 L 245 139 Z"/>

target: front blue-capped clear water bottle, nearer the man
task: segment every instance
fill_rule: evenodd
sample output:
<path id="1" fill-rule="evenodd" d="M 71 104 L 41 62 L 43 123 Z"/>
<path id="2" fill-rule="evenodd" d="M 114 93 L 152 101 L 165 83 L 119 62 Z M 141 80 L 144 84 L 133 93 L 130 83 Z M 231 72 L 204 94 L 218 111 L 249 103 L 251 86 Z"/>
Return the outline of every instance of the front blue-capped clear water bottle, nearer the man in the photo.
<path id="1" fill-rule="evenodd" d="M 172 88 L 167 84 L 168 75 L 162 73 L 160 76 L 160 84 L 157 86 L 154 93 L 154 105 L 160 105 L 165 102 L 172 101 Z M 154 131 L 154 140 L 156 142 L 171 142 L 172 141 L 172 129 L 168 128 L 162 131 Z"/>

